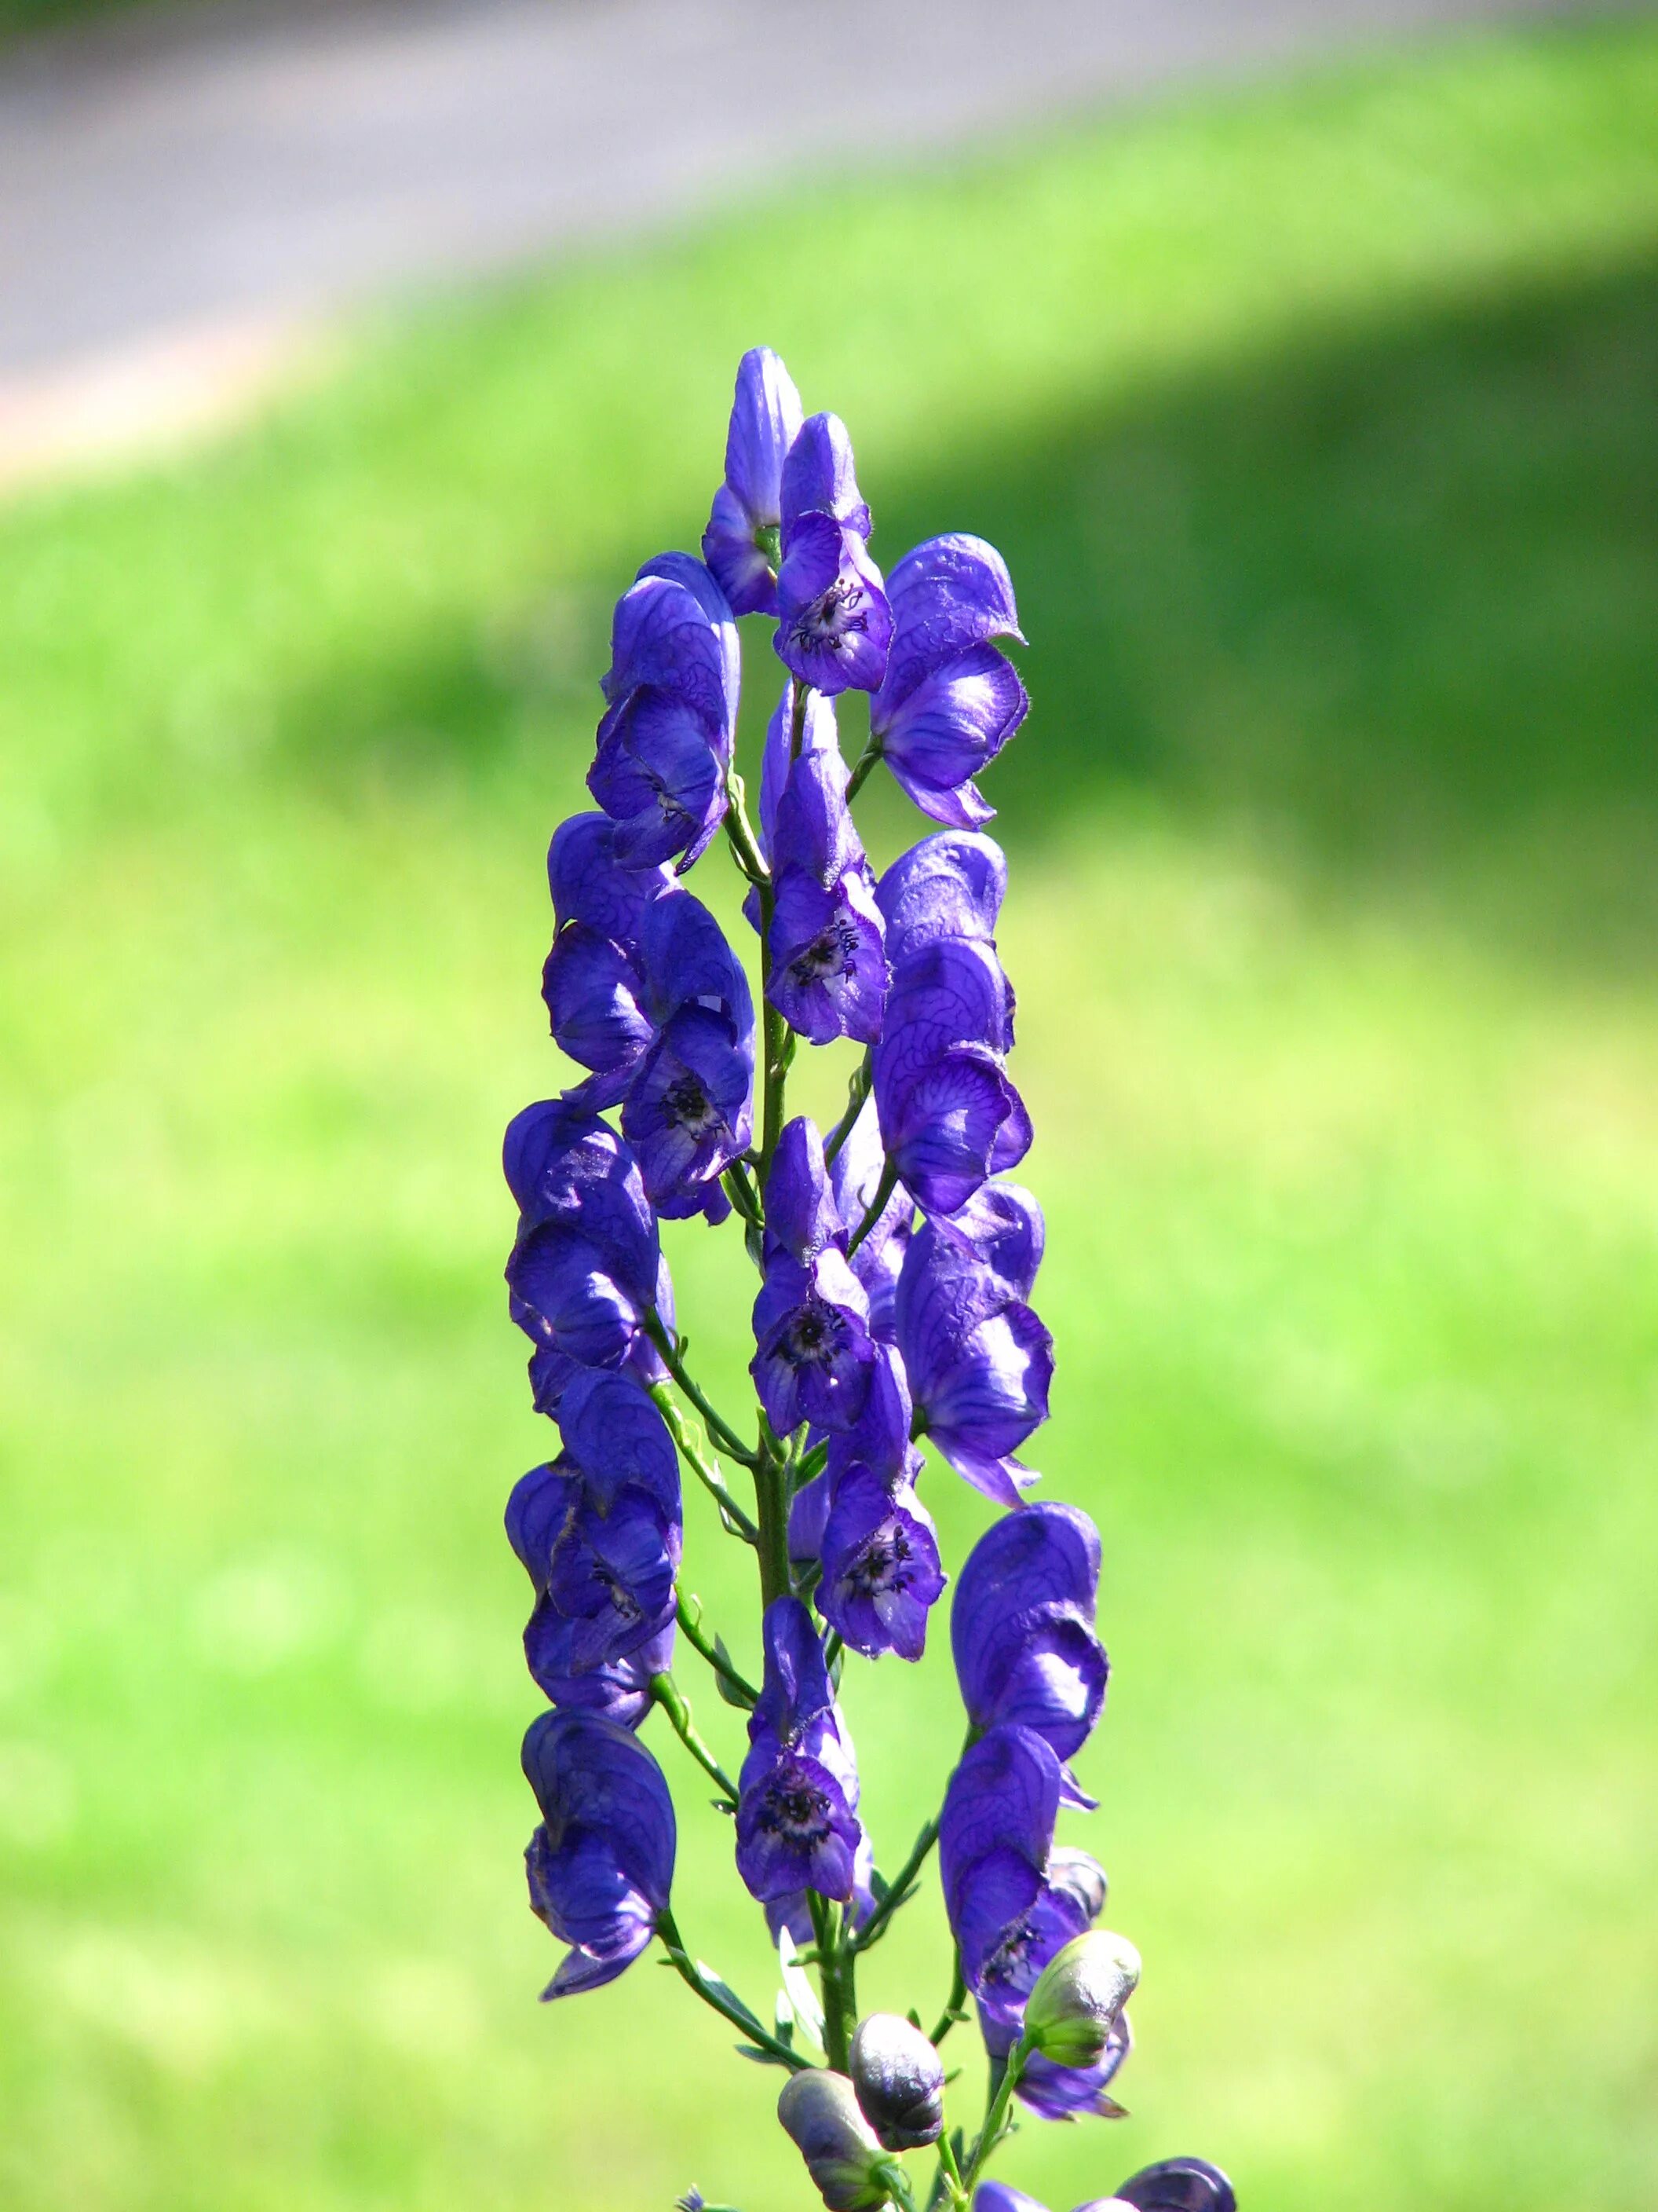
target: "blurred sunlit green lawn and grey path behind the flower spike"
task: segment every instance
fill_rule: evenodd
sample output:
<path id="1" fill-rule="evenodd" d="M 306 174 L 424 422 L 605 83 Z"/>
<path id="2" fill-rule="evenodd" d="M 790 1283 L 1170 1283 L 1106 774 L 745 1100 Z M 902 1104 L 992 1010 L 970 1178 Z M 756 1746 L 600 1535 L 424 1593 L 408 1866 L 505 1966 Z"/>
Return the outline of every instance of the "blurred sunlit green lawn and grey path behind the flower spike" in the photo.
<path id="1" fill-rule="evenodd" d="M 1030 633 L 1032 1458 L 1105 1535 L 1088 1843 L 1147 1975 L 1132 2119 L 1004 2170 L 1651 2203 L 1658 20 L 0 18 L 0 2201 L 807 2201 L 654 1964 L 535 2004 L 500 1535 L 544 845 L 765 341 L 875 555 L 979 531 Z M 878 856 L 920 827 L 873 792 Z M 734 1396 L 734 1239 L 672 1261 Z M 847 1681 L 889 1863 L 937 1644 Z M 940 1918 L 867 2002 L 942 1997 Z"/>

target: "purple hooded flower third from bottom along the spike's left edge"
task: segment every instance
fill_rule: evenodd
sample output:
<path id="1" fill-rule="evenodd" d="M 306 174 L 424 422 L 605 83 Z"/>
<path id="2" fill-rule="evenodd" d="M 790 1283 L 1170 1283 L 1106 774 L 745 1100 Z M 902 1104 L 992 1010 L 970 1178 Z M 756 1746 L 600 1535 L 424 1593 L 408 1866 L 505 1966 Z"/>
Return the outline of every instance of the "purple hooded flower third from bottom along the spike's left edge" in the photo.
<path id="1" fill-rule="evenodd" d="M 502 1166 L 520 1206 L 506 1285 L 537 1347 L 537 1407 L 548 1411 L 577 1367 L 659 1376 L 643 1318 L 665 1270 L 632 1148 L 597 1115 L 544 1099 L 508 1126 Z"/>

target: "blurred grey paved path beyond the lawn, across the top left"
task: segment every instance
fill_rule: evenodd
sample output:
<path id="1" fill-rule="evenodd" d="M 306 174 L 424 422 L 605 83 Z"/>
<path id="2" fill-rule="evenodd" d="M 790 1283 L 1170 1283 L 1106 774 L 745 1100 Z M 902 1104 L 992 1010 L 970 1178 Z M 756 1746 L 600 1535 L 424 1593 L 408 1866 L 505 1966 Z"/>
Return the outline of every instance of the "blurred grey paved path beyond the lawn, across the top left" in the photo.
<path id="1" fill-rule="evenodd" d="M 0 473 L 199 420 L 343 305 L 1176 71 L 1570 0 L 382 0 L 0 62 Z M 833 168 L 825 168 L 833 179 Z"/>

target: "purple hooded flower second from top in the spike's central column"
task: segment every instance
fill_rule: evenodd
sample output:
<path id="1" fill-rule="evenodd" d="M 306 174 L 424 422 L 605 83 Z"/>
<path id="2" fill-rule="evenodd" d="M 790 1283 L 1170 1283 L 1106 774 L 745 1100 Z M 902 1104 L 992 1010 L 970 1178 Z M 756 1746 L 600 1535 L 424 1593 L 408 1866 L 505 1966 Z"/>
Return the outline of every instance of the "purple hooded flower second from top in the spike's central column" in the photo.
<path id="1" fill-rule="evenodd" d="M 886 925 L 847 805 L 840 750 L 800 750 L 776 799 L 765 995 L 814 1044 L 873 1044 L 886 1000 Z"/>

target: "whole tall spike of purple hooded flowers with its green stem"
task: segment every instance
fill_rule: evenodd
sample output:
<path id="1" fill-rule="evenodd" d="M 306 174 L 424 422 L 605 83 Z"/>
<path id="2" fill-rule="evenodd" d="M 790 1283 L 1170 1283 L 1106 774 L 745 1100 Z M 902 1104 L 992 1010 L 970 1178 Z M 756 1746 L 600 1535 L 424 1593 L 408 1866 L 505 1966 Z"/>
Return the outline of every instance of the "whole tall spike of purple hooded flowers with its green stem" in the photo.
<path id="1" fill-rule="evenodd" d="M 1068 1761 L 1099 1721 L 1108 1663 L 1094 1526 L 1070 1506 L 1026 1504 L 1035 1478 L 1017 1458 L 1048 1418 L 1052 1338 L 1030 1305 L 1041 1210 L 1006 1181 L 1032 1133 L 1008 1075 L 1006 863 L 975 776 L 1026 717 L 1004 653 L 1024 639 L 993 546 L 935 538 L 882 577 L 869 540 L 844 425 L 807 418 L 783 363 L 747 354 L 701 560 L 663 553 L 617 602 L 588 770 L 597 812 L 566 821 L 548 852 L 542 995 L 581 1073 L 517 1115 L 504 1148 L 511 1316 L 531 1340 L 535 1409 L 559 1431 L 557 1455 L 506 1509 L 533 1586 L 524 1652 L 550 1703 L 524 1739 L 542 1812 L 531 1902 L 570 1947 L 548 1997 L 612 1980 L 661 1936 L 752 2055 L 811 2070 L 791 2031 L 769 2033 L 679 1942 L 672 1801 L 637 1734 L 661 1708 L 721 1792 L 736 1871 L 774 1938 L 816 1944 L 831 2075 L 851 2066 L 856 1958 L 937 1840 L 962 1986 L 993 2064 L 1012 2068 L 1037 2112 L 1116 2112 L 1116 2008 L 1088 2064 L 1048 2055 L 1026 2017 L 1043 1969 L 1105 1898 L 1096 1863 L 1054 1832 L 1061 1807 L 1090 1805 Z M 785 668 L 754 823 L 736 772 L 747 615 L 772 624 Z M 838 701 L 856 692 L 869 737 L 849 768 Z M 884 874 L 851 814 L 880 761 L 942 825 Z M 758 1035 L 743 962 L 681 880 L 721 834 L 758 936 Z M 785 1110 L 800 1040 L 862 1048 L 827 1135 Z M 760 1276 L 752 1442 L 688 1374 L 661 1250 L 663 1221 L 732 1210 Z M 1008 1511 L 955 1584 L 968 1747 L 889 1887 L 838 1683 L 847 1650 L 920 1659 L 944 1595 L 917 1489 L 922 1438 Z M 716 1453 L 754 1475 L 752 1517 Z M 758 1555 L 758 1688 L 681 1590 L 681 1458 Z M 674 1681 L 676 1624 L 727 1703 L 747 1708 L 734 1783 Z M 827 2106 L 798 2095 L 785 2115 L 814 2146 L 814 2177 L 836 2177 L 820 2179 L 827 2201 L 836 2190 L 849 2205 L 886 2203 L 902 2179 L 880 2163 L 891 2141 L 933 2141 L 942 2126 L 915 2132 L 942 2099 L 931 2044 L 917 2070 L 917 2031 L 882 2020 L 871 2015 L 862 2051 L 871 2068 L 880 2053 L 886 2104 L 900 2088 L 909 2099 L 898 2135 L 871 2135 L 838 2093 Z M 968 2185 L 993 2148 L 986 2124 Z"/>

